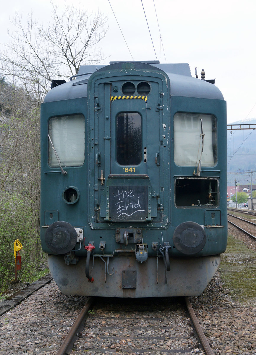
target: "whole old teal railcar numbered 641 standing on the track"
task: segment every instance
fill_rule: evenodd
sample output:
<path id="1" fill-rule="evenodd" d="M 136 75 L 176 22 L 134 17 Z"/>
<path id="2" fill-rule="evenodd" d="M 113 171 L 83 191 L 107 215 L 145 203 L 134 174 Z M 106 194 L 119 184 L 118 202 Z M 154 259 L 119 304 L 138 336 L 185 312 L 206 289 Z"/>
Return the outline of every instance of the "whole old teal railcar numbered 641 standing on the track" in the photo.
<path id="1" fill-rule="evenodd" d="M 112 62 L 41 105 L 41 245 L 67 295 L 199 295 L 227 245 L 226 102 L 188 64 Z"/>

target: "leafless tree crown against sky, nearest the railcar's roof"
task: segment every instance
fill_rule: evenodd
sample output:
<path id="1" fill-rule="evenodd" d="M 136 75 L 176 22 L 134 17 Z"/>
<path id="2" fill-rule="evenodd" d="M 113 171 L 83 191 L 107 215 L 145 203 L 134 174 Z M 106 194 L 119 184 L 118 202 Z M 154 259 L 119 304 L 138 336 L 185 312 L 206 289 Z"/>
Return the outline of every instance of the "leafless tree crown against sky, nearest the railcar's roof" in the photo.
<path id="1" fill-rule="evenodd" d="M 80 6 L 75 11 L 73 7 L 69 9 L 66 6 L 66 11 L 60 15 L 57 5 L 53 5 L 52 17 L 55 24 L 51 24 L 47 31 L 41 27 L 41 36 L 51 46 L 56 69 L 66 72 L 59 72 L 59 75 L 76 75 L 82 63 L 102 60 L 101 50 L 95 51 L 95 46 L 105 36 L 106 17 L 99 11 L 89 16 Z"/>

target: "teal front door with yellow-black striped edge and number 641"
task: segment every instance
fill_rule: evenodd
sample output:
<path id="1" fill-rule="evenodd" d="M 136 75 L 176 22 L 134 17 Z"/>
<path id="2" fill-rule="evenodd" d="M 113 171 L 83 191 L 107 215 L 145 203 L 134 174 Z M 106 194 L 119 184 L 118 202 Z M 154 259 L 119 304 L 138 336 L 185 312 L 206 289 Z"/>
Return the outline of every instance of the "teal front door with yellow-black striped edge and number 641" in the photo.
<path id="1" fill-rule="evenodd" d="M 148 76 L 141 80 L 140 75 L 132 81 L 115 76 L 94 82 L 96 151 L 90 205 L 94 202 L 91 223 L 95 226 L 163 222 L 163 191 L 168 179 L 163 176 L 164 160 L 168 160 L 163 81 Z"/>

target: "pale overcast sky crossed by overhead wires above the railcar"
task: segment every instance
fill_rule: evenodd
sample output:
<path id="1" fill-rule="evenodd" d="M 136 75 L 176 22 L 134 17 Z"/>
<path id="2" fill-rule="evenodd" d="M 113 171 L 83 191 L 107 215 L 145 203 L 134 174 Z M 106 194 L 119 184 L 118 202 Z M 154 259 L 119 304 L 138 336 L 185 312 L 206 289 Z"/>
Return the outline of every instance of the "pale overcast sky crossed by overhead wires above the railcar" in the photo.
<path id="1" fill-rule="evenodd" d="M 64 5 L 64 0 L 53 2 L 60 8 Z M 195 67 L 199 76 L 204 69 L 206 79 L 216 78 L 215 84 L 227 101 L 228 123 L 256 118 L 256 0 L 142 2 L 155 50 L 141 0 L 110 0 L 133 59 L 186 62 L 192 76 L 195 76 Z M 76 5 L 79 1 L 67 0 L 66 3 Z M 132 60 L 108 0 L 83 0 L 80 3 L 88 11 L 99 8 L 108 15 L 108 31 L 101 42 L 106 59 L 101 64 Z M 49 0 L 12 0 L 1 5 L 1 44 L 9 40 L 7 29 L 12 30 L 10 18 L 15 12 L 26 18 L 31 9 L 39 22 L 50 20 Z"/>

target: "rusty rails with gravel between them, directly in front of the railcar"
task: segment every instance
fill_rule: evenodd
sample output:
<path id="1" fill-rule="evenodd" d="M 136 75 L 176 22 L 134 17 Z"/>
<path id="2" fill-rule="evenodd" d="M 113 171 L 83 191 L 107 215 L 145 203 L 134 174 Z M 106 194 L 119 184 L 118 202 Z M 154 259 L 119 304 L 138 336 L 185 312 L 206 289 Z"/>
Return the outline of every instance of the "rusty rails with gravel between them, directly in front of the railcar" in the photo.
<path id="1" fill-rule="evenodd" d="M 93 309 L 90 310 L 93 303 Z M 187 308 L 186 308 L 187 306 Z M 88 313 L 89 312 L 89 313 Z M 197 337 L 206 355 L 213 355 L 189 298 L 97 299 L 92 297 L 67 334 L 57 355 L 195 354 Z M 85 323 L 85 324 L 84 324 Z M 81 324 L 84 324 L 83 329 Z M 197 350 L 197 353 L 200 350 Z M 203 354 L 201 352 L 201 354 Z"/>

